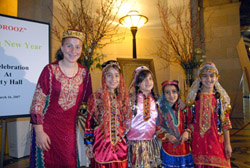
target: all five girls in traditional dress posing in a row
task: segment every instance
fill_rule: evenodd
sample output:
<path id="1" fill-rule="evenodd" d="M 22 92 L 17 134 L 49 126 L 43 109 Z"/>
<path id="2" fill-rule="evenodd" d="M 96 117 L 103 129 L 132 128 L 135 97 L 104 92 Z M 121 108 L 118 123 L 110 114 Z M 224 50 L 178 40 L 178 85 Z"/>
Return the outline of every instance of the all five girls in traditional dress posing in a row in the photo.
<path id="1" fill-rule="evenodd" d="M 80 167 L 76 121 L 86 101 L 84 141 L 92 168 L 231 167 L 230 98 L 213 63 L 200 66 L 186 105 L 176 80 L 164 81 L 157 98 L 146 66 L 135 69 L 127 91 L 113 60 L 103 63 L 102 88 L 92 94 L 90 73 L 77 62 L 84 37 L 66 30 L 57 61 L 39 77 L 30 112 L 30 167 Z"/>

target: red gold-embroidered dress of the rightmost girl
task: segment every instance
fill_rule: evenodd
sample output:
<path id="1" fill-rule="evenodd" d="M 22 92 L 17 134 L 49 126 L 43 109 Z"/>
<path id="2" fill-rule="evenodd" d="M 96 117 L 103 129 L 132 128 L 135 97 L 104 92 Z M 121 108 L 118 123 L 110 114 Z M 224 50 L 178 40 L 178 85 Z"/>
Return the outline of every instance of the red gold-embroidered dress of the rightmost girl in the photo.
<path id="1" fill-rule="evenodd" d="M 201 93 L 200 99 L 195 102 L 192 111 L 194 114 L 194 130 L 192 153 L 195 165 L 214 167 L 231 167 L 230 159 L 226 159 L 224 150 L 224 137 L 218 129 L 219 100 L 215 94 Z M 231 129 L 228 110 L 221 121 L 222 129 Z"/>

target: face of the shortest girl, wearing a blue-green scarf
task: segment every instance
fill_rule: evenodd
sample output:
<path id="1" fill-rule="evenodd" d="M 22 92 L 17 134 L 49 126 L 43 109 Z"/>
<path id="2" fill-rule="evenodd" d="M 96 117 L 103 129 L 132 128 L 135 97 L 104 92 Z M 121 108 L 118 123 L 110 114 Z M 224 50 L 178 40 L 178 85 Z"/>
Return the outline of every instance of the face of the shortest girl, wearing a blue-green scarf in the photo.
<path id="1" fill-rule="evenodd" d="M 178 100 L 178 91 L 175 86 L 167 85 L 164 88 L 164 96 L 171 106 Z"/>

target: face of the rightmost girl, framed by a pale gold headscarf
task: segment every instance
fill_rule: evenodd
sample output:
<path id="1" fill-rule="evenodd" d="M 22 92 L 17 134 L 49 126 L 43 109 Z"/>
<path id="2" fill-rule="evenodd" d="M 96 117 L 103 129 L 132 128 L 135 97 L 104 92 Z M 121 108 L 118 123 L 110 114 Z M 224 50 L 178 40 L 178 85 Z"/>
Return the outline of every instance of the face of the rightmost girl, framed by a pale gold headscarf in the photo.
<path id="1" fill-rule="evenodd" d="M 214 72 L 207 71 L 202 73 L 200 79 L 202 83 L 202 91 L 208 93 L 213 92 L 214 85 L 218 80 L 217 75 Z"/>

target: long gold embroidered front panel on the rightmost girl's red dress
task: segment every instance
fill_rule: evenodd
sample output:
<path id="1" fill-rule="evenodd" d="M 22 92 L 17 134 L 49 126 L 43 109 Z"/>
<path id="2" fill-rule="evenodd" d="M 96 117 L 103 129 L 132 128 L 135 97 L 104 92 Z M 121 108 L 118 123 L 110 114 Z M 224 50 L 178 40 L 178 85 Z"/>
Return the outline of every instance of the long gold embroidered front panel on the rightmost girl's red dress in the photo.
<path id="1" fill-rule="evenodd" d="M 200 101 L 200 135 L 203 138 L 211 126 L 212 97 L 202 94 Z"/>

